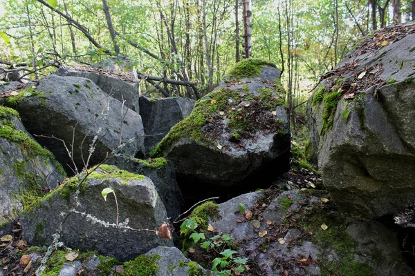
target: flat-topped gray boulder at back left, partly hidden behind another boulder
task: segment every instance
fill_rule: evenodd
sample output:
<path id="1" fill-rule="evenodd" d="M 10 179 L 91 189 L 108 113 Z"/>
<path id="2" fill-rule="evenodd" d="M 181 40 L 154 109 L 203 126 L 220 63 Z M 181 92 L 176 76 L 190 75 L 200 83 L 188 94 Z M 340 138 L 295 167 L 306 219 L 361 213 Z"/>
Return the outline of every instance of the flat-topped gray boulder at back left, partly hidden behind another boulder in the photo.
<path id="1" fill-rule="evenodd" d="M 111 97 L 120 102 L 125 101 L 124 105 L 128 108 L 136 112 L 140 111 L 138 83 L 135 83 L 129 76 L 86 66 L 62 66 L 55 74 L 90 79 Z"/>

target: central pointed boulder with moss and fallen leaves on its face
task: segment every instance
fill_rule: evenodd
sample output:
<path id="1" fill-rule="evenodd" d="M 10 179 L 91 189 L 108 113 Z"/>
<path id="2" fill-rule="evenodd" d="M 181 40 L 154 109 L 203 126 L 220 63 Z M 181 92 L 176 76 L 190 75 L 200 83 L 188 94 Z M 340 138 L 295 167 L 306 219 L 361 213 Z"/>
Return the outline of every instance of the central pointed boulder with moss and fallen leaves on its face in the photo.
<path id="1" fill-rule="evenodd" d="M 189 181 L 229 187 L 288 168 L 290 130 L 279 70 L 248 59 L 228 75 L 152 151 L 173 161 L 178 176 Z"/>

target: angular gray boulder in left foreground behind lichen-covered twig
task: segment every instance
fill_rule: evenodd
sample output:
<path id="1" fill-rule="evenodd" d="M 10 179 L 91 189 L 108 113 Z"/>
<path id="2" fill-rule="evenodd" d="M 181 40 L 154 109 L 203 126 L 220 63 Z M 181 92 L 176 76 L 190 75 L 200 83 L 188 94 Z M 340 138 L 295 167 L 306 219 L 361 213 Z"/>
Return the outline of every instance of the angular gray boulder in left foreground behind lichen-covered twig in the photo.
<path id="1" fill-rule="evenodd" d="M 20 219 L 27 242 L 50 245 L 58 237 L 65 246 L 98 250 L 122 262 L 157 246 L 173 245 L 172 239 L 155 233 L 167 221 L 167 213 L 148 177 L 109 165 L 84 177 L 71 178 L 33 203 Z M 105 188 L 114 191 L 106 200 L 102 197 Z"/>

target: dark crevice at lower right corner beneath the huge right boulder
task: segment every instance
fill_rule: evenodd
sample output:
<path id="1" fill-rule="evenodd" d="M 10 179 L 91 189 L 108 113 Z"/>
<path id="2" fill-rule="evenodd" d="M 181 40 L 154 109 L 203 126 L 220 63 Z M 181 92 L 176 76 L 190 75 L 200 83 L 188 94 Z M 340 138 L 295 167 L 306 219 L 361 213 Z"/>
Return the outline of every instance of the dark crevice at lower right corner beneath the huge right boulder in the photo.
<path id="1" fill-rule="evenodd" d="M 396 224 L 393 215 L 385 215 L 378 221 L 396 233 L 403 259 L 410 268 L 415 270 L 415 228 Z"/>

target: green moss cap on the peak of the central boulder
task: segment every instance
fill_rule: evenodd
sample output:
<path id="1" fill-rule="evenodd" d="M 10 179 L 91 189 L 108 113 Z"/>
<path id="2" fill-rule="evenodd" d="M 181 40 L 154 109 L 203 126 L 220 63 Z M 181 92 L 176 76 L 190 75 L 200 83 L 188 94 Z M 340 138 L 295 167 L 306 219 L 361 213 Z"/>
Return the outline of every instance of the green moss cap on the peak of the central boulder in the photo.
<path id="1" fill-rule="evenodd" d="M 231 79 L 259 77 L 262 66 L 277 67 L 275 63 L 263 59 L 243 59 L 228 70 L 226 75 Z"/>

